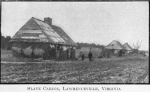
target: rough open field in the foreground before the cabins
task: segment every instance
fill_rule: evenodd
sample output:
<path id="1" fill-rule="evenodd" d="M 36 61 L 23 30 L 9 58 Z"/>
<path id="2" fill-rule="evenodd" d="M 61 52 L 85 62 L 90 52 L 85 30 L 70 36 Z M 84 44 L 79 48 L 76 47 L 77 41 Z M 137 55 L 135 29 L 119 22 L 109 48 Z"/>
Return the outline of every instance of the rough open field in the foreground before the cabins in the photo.
<path id="1" fill-rule="evenodd" d="M 149 58 L 85 61 L 14 58 L 1 50 L 1 83 L 149 83 Z"/>

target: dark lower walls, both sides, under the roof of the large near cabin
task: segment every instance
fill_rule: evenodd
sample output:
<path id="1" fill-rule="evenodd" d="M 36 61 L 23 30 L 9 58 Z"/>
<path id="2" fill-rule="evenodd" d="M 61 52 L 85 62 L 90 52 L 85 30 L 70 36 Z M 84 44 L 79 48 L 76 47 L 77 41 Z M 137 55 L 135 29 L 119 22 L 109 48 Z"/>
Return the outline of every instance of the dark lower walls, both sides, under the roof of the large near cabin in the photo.
<path id="1" fill-rule="evenodd" d="M 13 43 L 12 50 L 16 56 L 57 60 L 74 60 L 75 48 L 71 46 L 43 43 Z"/>

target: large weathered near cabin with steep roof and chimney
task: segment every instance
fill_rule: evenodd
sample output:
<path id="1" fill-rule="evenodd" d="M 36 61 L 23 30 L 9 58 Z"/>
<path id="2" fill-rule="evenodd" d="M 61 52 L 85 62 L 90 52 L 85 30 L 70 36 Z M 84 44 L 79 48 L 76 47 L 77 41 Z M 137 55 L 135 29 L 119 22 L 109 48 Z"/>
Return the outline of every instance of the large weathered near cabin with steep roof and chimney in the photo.
<path id="1" fill-rule="evenodd" d="M 44 21 L 32 17 L 12 37 L 11 43 L 13 52 L 24 57 L 75 58 L 75 42 L 61 27 L 52 25 L 49 17 Z"/>

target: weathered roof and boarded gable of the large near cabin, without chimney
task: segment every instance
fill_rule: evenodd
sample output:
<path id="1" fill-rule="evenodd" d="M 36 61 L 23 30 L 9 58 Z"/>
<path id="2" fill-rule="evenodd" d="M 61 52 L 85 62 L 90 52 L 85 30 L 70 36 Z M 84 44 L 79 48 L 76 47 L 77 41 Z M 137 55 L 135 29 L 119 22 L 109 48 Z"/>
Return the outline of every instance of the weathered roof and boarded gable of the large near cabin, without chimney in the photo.
<path id="1" fill-rule="evenodd" d="M 62 28 L 32 17 L 12 37 L 11 42 L 44 42 L 76 46 Z"/>

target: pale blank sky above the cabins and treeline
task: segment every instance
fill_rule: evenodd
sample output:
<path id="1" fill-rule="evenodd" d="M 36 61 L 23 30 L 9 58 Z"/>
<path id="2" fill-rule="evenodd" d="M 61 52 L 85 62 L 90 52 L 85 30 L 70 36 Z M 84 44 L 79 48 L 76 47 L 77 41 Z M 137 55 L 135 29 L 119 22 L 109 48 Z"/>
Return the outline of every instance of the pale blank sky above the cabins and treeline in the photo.
<path id="1" fill-rule="evenodd" d="M 142 41 L 149 49 L 148 2 L 2 2 L 4 36 L 13 36 L 31 17 L 51 17 L 75 42 L 107 45 L 112 40 L 131 47 Z"/>

